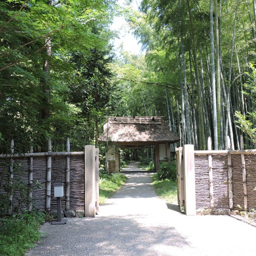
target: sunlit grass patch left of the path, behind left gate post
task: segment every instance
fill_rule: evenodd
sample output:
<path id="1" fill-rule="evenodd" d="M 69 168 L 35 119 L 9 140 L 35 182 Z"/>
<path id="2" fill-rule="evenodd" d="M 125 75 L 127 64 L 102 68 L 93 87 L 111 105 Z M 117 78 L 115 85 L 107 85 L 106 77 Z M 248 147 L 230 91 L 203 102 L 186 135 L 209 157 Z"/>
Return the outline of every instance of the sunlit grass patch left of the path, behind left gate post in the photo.
<path id="1" fill-rule="evenodd" d="M 122 173 L 100 175 L 99 179 L 99 204 L 103 204 L 110 198 L 127 180 Z"/>

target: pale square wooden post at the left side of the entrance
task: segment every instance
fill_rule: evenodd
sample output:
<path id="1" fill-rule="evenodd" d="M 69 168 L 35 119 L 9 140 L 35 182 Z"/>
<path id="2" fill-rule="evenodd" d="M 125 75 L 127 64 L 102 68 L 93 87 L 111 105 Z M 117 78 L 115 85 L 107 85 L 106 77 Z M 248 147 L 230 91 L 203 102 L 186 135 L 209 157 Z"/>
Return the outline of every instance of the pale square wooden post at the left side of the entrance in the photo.
<path id="1" fill-rule="evenodd" d="M 95 217 L 95 146 L 85 146 L 84 216 Z"/>

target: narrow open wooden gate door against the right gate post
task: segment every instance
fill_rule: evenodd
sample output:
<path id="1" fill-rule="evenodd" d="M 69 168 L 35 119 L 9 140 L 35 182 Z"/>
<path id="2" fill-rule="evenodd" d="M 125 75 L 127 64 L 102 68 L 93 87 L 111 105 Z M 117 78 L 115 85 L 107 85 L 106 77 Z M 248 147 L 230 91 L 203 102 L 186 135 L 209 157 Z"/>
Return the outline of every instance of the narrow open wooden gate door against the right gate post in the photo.
<path id="1" fill-rule="evenodd" d="M 182 147 L 176 149 L 176 165 L 177 165 L 177 191 L 178 191 L 178 205 L 180 210 L 184 210 L 184 169 Z"/>

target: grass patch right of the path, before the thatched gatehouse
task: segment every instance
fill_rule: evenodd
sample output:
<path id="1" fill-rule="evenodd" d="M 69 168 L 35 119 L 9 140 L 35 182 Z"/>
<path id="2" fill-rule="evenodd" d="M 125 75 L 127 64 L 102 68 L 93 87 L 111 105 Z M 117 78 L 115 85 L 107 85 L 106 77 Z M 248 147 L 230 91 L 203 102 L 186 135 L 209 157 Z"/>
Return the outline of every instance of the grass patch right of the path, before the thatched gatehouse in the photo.
<path id="1" fill-rule="evenodd" d="M 177 182 L 172 180 L 158 180 L 158 175 L 153 175 L 153 185 L 156 194 L 164 199 L 167 203 L 174 203 L 177 201 Z"/>

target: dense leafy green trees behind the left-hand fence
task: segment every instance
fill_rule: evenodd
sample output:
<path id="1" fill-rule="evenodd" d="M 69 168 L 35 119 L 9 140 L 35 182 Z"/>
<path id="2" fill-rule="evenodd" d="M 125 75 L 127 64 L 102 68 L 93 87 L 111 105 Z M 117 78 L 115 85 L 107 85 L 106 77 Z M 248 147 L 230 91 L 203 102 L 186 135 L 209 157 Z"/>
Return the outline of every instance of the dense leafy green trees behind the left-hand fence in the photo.
<path id="1" fill-rule="evenodd" d="M 115 1 L 0 3 L 0 149 L 62 150 L 94 140 L 112 91 Z M 104 110 L 104 111 L 103 111 Z"/>

